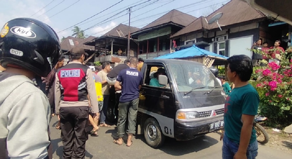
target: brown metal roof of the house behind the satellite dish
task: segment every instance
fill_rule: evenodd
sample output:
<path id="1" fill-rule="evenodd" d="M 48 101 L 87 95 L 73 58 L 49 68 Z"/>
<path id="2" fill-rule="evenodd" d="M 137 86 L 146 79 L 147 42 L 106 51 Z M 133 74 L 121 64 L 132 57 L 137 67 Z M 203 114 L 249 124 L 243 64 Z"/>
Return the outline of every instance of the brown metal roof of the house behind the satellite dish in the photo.
<path id="1" fill-rule="evenodd" d="M 256 10 L 255 8 L 248 5 L 248 3 L 241 1 L 241 0 L 231 0 L 230 2 L 226 3 L 224 6 L 216 10 L 215 12 L 211 13 L 206 17 L 207 20 L 210 20 L 215 14 L 223 12 L 223 16 L 218 20 L 218 23 L 221 25 L 231 25 L 231 24 L 237 24 L 241 22 L 247 22 L 253 19 L 259 19 L 265 17 L 265 14 L 260 12 L 259 10 Z M 178 31 L 171 37 L 176 37 L 179 35 L 183 35 L 186 33 L 190 33 L 193 31 L 198 31 L 201 28 L 206 29 L 215 29 L 218 28 L 217 23 L 208 24 L 204 17 L 201 17 L 201 26 L 199 22 L 192 22 L 182 30 Z"/>

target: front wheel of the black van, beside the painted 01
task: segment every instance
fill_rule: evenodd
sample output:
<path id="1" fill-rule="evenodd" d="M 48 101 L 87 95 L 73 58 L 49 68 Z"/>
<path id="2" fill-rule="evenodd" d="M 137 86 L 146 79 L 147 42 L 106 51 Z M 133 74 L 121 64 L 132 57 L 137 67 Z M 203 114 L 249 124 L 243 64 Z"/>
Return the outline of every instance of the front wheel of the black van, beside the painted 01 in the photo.
<path id="1" fill-rule="evenodd" d="M 165 136 L 163 135 L 157 120 L 152 117 L 147 118 L 143 127 L 146 143 L 154 149 L 161 147 L 164 143 Z"/>

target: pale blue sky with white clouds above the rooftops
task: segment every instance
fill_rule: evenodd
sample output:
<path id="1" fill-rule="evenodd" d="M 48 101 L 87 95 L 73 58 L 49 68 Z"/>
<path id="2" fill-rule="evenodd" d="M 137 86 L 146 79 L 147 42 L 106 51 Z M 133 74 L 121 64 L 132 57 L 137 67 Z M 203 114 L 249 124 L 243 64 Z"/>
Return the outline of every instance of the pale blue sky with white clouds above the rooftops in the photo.
<path id="1" fill-rule="evenodd" d="M 118 3 L 119 1 L 121 2 Z M 229 0 L 9 0 L 9 2 L 6 1 L 6 3 L 1 3 L 0 26 L 4 26 L 6 22 L 14 18 L 31 17 L 51 26 L 58 33 L 60 39 L 63 36 L 67 37 L 72 35 L 73 27 L 69 28 L 71 26 L 79 26 L 81 30 L 85 30 L 85 35 L 97 37 L 107 33 L 120 23 L 128 25 L 129 15 L 127 14 L 126 8 L 130 6 L 133 6 L 131 12 L 131 26 L 142 28 L 172 9 L 177 9 L 195 17 L 200 17 L 201 15 L 205 16 L 210 14 L 213 12 L 213 8 L 219 8 L 228 1 Z M 105 10 L 115 3 L 118 4 Z M 105 11 L 99 13 L 103 10 Z M 97 13 L 99 14 L 84 21 Z M 76 25 L 79 22 L 82 23 Z M 64 29 L 67 30 L 63 31 Z"/>

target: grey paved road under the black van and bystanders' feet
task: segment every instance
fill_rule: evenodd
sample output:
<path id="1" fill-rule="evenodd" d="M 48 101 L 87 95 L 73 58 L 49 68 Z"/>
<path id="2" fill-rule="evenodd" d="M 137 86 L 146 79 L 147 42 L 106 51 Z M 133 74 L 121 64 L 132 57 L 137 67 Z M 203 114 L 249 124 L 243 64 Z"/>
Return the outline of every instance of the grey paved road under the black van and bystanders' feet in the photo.
<path id="1" fill-rule="evenodd" d="M 60 139 L 60 130 L 54 127 L 57 123 L 57 117 L 51 120 L 51 138 L 53 144 L 53 158 L 62 157 L 62 141 Z M 126 143 L 119 146 L 114 144 L 113 137 L 116 137 L 117 128 L 100 128 L 98 137 L 89 136 L 86 142 L 86 158 L 141 158 L 141 159 L 214 159 L 221 158 L 222 142 L 219 140 L 220 135 L 210 133 L 203 137 L 191 141 L 176 141 L 167 139 L 164 146 L 160 149 L 149 147 L 144 140 L 143 135 L 136 135 L 133 139 L 133 145 L 126 147 Z M 125 138 L 126 141 L 126 138 Z M 257 159 L 284 159 L 291 158 L 291 154 L 271 149 L 270 147 L 259 145 L 259 155 Z"/>

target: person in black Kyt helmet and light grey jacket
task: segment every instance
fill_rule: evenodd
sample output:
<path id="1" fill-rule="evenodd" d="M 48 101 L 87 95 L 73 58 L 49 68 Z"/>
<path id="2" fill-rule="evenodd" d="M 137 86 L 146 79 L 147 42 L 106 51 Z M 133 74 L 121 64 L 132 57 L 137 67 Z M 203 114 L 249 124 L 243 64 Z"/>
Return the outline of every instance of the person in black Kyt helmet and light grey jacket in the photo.
<path id="1" fill-rule="evenodd" d="M 59 53 L 55 31 L 36 19 L 12 19 L 1 29 L 0 158 L 52 158 L 50 105 L 32 79 L 41 86 Z"/>

